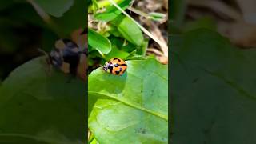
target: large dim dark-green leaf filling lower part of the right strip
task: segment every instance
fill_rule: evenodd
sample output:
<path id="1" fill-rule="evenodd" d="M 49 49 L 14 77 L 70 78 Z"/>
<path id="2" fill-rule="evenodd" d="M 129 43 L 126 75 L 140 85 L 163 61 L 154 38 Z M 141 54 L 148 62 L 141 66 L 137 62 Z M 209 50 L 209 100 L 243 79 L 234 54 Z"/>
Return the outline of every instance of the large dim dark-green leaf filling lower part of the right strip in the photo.
<path id="1" fill-rule="evenodd" d="M 203 29 L 171 41 L 171 141 L 255 143 L 256 50 Z"/>

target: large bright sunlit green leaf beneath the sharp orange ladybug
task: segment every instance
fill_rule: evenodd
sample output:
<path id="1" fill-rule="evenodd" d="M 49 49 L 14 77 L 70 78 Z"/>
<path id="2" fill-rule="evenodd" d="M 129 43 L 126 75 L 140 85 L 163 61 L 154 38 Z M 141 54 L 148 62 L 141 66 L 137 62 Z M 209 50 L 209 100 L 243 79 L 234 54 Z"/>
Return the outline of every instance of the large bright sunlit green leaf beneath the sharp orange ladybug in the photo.
<path id="1" fill-rule="evenodd" d="M 167 143 L 167 75 L 167 66 L 153 58 L 127 61 L 122 76 L 94 70 L 88 81 L 89 128 L 98 142 Z"/>

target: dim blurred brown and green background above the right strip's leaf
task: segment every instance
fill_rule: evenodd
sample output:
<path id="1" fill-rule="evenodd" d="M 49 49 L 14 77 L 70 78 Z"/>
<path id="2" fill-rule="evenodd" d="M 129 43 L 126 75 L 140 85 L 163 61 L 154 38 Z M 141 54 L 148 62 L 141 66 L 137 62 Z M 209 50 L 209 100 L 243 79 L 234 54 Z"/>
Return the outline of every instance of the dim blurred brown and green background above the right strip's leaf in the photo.
<path id="1" fill-rule="evenodd" d="M 170 5 L 170 34 L 206 28 L 229 38 L 235 46 L 256 47 L 254 0 L 181 0 Z"/>

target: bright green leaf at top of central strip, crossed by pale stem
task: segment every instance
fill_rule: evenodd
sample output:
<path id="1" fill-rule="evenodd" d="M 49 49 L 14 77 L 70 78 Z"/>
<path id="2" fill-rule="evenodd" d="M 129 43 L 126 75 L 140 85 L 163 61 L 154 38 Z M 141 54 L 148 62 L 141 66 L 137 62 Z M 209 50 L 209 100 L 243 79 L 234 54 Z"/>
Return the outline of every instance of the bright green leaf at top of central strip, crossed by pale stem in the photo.
<path id="1" fill-rule="evenodd" d="M 122 8 L 122 10 L 126 10 L 126 8 L 129 6 L 131 0 L 124 0 L 120 3 L 118 3 L 118 6 L 120 6 Z M 116 8 L 115 6 L 107 6 L 106 7 L 106 11 L 104 11 L 103 13 L 97 13 L 94 15 L 94 18 L 97 18 L 98 20 L 102 20 L 102 21 L 111 21 L 114 18 L 117 18 L 119 14 L 121 14 L 122 12 L 120 10 L 118 10 L 118 8 Z"/>

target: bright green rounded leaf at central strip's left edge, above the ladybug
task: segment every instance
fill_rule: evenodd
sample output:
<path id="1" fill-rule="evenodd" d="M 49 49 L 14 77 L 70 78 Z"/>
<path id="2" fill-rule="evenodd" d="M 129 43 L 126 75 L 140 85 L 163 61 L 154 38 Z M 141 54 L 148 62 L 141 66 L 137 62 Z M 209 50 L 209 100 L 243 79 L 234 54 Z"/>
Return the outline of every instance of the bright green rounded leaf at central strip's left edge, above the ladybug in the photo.
<path id="1" fill-rule="evenodd" d="M 101 54 L 108 54 L 111 50 L 110 40 L 92 29 L 88 29 L 88 44 Z"/>

